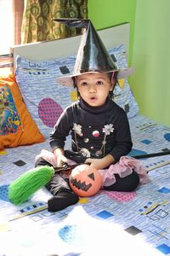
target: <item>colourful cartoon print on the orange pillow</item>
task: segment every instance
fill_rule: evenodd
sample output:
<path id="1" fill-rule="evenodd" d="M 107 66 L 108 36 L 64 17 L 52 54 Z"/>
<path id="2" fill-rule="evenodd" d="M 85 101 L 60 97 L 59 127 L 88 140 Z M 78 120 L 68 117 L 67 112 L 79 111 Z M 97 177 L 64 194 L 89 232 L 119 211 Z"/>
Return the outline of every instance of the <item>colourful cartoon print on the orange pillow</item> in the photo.
<path id="1" fill-rule="evenodd" d="M 22 131 L 20 115 L 8 86 L 0 87 L 0 135 Z"/>

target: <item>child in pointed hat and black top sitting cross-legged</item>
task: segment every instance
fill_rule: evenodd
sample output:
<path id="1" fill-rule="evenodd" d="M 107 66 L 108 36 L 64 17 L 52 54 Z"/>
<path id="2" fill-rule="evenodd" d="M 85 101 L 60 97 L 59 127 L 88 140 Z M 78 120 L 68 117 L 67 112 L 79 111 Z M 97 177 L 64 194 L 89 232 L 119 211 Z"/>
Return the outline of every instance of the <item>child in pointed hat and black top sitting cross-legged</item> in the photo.
<path id="1" fill-rule="evenodd" d="M 65 20 L 61 21 L 65 22 Z M 74 20 L 74 26 L 75 21 L 80 25 L 80 20 Z M 82 52 L 80 47 L 75 65 L 78 70 L 75 69 L 73 75 L 64 77 L 63 80 L 59 79 L 62 84 L 66 84 L 67 79 L 72 79 L 79 100 L 61 114 L 50 134 L 52 153 L 48 154 L 49 157 L 46 154 L 39 154 L 36 166 L 59 167 L 73 160 L 77 163 L 88 163 L 97 170 L 107 173 L 111 169 L 110 166 L 119 165 L 122 156 L 127 155 L 132 149 L 127 114 L 112 101 L 116 77 L 120 70 L 117 70 L 111 60 L 92 23 L 87 20 L 87 24 L 88 35 L 85 37 L 87 41 L 86 44 L 83 42 Z M 92 49 L 90 49 L 91 45 Z M 127 70 L 125 73 L 127 74 Z M 65 138 L 70 132 L 71 150 L 65 150 Z M 112 191 L 136 189 L 139 185 L 139 174 L 133 168 L 130 172 L 129 169 L 126 170 L 127 174 L 124 171 L 115 172 L 112 169 L 112 174 L 110 172 L 110 176 L 113 177 L 112 182 L 107 186 L 104 182 L 103 189 Z M 122 175 L 121 172 L 124 174 Z M 56 212 L 78 201 L 78 196 L 69 186 L 68 178 L 62 173 L 55 174 L 47 188 L 54 195 L 48 200 L 48 211 Z"/>

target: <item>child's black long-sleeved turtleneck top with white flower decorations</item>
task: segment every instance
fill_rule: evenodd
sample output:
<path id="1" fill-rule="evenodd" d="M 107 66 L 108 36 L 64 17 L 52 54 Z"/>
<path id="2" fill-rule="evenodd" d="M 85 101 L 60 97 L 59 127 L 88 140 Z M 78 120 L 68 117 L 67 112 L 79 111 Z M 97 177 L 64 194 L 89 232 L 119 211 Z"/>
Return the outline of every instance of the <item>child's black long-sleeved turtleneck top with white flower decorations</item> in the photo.
<path id="1" fill-rule="evenodd" d="M 77 156 L 84 162 L 106 154 L 118 161 L 133 146 L 127 113 L 109 98 L 101 107 L 91 107 L 80 99 L 66 108 L 50 133 L 51 148 L 64 149 L 70 132 L 72 151 L 65 150 L 65 156 L 77 162 Z"/>

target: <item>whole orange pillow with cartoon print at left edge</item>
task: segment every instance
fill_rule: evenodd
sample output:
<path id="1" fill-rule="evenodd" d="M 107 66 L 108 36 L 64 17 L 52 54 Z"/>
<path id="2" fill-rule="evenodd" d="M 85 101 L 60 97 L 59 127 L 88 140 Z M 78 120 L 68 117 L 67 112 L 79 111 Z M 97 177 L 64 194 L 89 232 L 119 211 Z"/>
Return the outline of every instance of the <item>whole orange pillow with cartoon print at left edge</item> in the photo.
<path id="1" fill-rule="evenodd" d="M 0 150 L 43 141 L 44 137 L 26 108 L 14 74 L 0 77 Z"/>

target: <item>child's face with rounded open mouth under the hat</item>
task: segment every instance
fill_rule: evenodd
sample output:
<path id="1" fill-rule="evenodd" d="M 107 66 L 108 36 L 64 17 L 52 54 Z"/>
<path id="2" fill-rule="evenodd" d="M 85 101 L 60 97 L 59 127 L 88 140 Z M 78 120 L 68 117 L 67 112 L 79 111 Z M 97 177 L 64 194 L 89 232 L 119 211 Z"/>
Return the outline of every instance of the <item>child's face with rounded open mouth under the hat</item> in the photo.
<path id="1" fill-rule="evenodd" d="M 105 104 L 113 85 L 108 73 L 84 73 L 77 76 L 77 90 L 82 99 L 92 107 Z"/>

